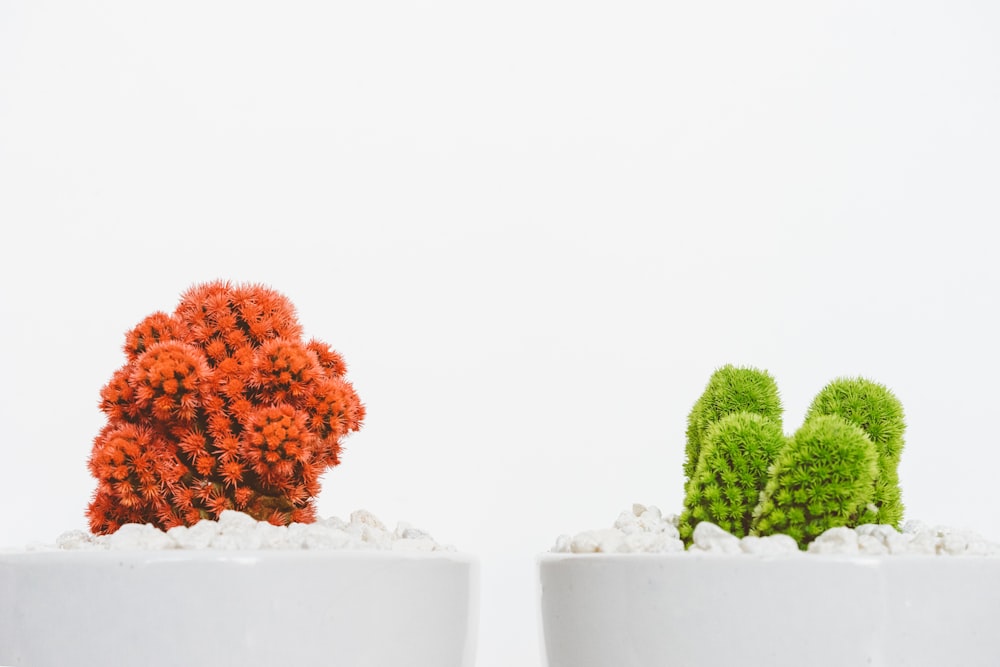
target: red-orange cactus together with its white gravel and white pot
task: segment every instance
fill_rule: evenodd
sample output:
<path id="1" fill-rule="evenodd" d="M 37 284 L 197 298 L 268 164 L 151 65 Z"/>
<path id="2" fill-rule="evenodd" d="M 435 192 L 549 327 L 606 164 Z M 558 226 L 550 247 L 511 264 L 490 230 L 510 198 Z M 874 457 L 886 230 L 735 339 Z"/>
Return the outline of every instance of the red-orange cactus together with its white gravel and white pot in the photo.
<path id="1" fill-rule="evenodd" d="M 124 352 L 90 533 L 0 554 L 0 665 L 471 667 L 475 558 L 363 510 L 316 516 L 365 407 L 285 296 L 196 285 Z"/>

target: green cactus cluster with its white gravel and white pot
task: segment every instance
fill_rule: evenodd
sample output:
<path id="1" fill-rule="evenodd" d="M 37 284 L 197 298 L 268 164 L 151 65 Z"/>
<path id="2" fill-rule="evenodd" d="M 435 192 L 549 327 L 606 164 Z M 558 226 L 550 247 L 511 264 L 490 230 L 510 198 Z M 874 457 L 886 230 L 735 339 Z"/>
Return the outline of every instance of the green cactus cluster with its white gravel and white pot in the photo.
<path id="1" fill-rule="evenodd" d="M 719 368 L 681 512 L 636 505 L 539 558 L 549 666 L 995 664 L 1000 547 L 903 525 L 904 428 L 887 387 L 839 378 L 786 435 L 771 375 Z"/>

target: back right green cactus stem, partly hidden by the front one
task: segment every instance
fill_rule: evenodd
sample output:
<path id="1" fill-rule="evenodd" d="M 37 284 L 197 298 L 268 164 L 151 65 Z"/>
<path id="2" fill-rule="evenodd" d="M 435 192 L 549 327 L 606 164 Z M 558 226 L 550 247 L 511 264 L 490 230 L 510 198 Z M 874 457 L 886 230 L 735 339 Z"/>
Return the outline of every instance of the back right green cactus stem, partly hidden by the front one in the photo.
<path id="1" fill-rule="evenodd" d="M 817 394 L 806 419 L 818 415 L 838 415 L 860 427 L 878 452 L 874 493 L 856 518 L 857 524 L 882 523 L 898 529 L 903 518 L 898 467 L 906 428 L 899 399 L 877 382 L 839 378 Z"/>

